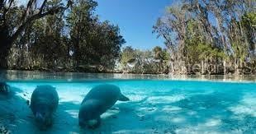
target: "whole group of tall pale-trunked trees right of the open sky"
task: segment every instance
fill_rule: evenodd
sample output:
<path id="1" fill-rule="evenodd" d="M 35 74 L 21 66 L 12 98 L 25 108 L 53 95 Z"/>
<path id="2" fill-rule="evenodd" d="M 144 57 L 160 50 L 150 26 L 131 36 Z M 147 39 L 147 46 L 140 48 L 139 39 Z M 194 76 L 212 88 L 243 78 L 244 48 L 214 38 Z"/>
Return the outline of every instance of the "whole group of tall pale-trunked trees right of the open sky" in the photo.
<path id="1" fill-rule="evenodd" d="M 178 67 L 184 67 L 190 73 L 194 65 L 201 64 L 201 73 L 212 65 L 215 72 L 211 73 L 240 74 L 248 64 L 252 66 L 254 7 L 255 2 L 249 0 L 183 0 L 169 6 L 154 25 L 154 32 L 165 39 L 171 51 L 173 72 L 181 73 Z"/>

